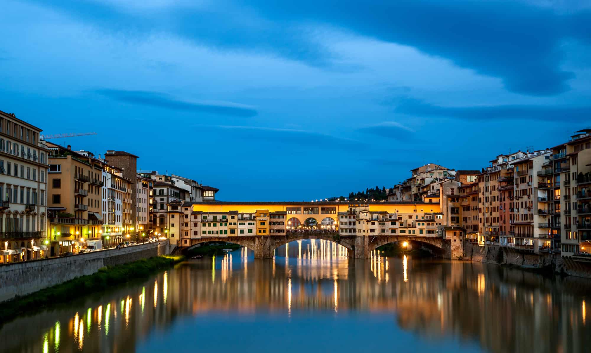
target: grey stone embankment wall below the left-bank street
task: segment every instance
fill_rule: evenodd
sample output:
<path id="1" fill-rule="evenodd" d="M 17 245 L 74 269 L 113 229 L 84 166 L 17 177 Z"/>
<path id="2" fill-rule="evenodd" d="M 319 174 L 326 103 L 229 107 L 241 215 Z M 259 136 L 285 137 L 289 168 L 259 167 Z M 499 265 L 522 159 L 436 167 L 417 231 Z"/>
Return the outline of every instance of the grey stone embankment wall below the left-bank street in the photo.
<path id="1" fill-rule="evenodd" d="M 97 272 L 101 267 L 170 253 L 168 240 L 121 249 L 0 265 L 0 302 Z"/>

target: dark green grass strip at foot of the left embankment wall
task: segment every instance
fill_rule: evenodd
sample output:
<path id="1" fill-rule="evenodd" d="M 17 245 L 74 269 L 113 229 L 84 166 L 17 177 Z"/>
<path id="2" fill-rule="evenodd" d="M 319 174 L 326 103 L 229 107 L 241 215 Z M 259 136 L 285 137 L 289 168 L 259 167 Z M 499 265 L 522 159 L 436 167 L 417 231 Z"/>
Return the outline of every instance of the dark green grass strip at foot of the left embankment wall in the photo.
<path id="1" fill-rule="evenodd" d="M 0 305 L 0 326 L 16 316 L 72 301 L 80 293 L 96 293 L 129 280 L 141 279 L 184 260 L 183 256 L 155 256 L 117 266 L 102 267 L 98 272 L 59 285 L 38 290 Z M 84 295 L 84 294 L 82 294 Z"/>

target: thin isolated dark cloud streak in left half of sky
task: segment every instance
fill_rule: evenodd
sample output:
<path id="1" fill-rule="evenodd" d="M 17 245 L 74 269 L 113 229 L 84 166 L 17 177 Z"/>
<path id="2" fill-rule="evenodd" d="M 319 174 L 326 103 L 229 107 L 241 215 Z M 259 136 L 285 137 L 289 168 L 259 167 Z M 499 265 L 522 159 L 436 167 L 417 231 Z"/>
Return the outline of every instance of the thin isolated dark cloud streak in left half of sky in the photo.
<path id="1" fill-rule="evenodd" d="M 254 107 L 231 102 L 186 102 L 174 97 L 152 91 L 126 91 L 101 89 L 96 93 L 109 97 L 119 102 L 141 104 L 172 110 L 184 110 L 189 112 L 210 113 L 216 115 L 229 115 L 239 117 L 252 117 L 257 114 Z"/>

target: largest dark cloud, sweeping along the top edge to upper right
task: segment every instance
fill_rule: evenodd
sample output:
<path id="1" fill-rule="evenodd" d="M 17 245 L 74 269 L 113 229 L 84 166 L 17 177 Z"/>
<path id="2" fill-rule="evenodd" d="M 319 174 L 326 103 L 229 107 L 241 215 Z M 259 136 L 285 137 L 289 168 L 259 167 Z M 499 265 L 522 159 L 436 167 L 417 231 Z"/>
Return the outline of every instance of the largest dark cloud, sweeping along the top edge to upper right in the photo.
<path id="1" fill-rule="evenodd" d="M 560 14 L 517 1 L 249 0 L 217 9 L 131 12 L 83 1 L 43 1 L 108 31 L 173 32 L 220 48 L 269 51 L 313 66 L 338 62 L 320 43 L 314 24 L 381 41 L 410 45 L 480 74 L 499 77 L 508 90 L 551 96 L 574 77 L 560 68 L 565 38 L 591 44 L 591 11 Z"/>

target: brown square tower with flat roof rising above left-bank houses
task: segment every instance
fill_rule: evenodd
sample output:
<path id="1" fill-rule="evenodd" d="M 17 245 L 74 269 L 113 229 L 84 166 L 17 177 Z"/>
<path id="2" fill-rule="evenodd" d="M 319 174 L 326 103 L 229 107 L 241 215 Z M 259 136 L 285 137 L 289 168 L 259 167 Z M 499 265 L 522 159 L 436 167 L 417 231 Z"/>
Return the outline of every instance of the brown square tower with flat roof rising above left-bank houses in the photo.
<path id="1" fill-rule="evenodd" d="M 137 206 L 135 205 L 135 200 L 137 200 L 137 188 L 135 185 L 137 182 L 135 179 L 137 178 L 138 158 L 138 156 L 125 151 L 109 150 L 105 153 L 105 159 L 109 164 L 119 168 L 123 178 L 131 182 L 131 188 L 129 188 L 131 189 L 131 192 L 129 192 L 130 195 L 129 197 L 127 197 L 128 195 L 125 195 L 123 200 L 124 215 L 122 222 L 124 227 L 129 228 L 126 231 L 131 238 L 137 238 L 137 229 L 134 225 L 137 220 Z"/>

